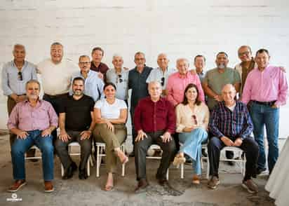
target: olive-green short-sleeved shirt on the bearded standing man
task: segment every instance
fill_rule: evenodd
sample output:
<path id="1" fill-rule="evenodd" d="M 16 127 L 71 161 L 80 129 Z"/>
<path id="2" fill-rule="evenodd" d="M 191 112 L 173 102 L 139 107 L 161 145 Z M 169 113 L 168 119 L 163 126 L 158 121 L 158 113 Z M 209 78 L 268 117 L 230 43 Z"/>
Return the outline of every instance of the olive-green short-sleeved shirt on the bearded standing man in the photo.
<path id="1" fill-rule="evenodd" d="M 220 73 L 218 69 L 215 68 L 206 72 L 203 83 L 207 83 L 208 87 L 213 90 L 213 92 L 215 92 L 217 95 L 221 95 L 224 85 L 228 83 L 233 85 L 235 83 L 241 83 L 241 77 L 236 69 L 227 67 L 224 69 L 224 73 Z M 215 105 L 217 105 L 217 101 L 213 99 L 213 97 L 208 96 L 209 109 L 212 110 Z"/>

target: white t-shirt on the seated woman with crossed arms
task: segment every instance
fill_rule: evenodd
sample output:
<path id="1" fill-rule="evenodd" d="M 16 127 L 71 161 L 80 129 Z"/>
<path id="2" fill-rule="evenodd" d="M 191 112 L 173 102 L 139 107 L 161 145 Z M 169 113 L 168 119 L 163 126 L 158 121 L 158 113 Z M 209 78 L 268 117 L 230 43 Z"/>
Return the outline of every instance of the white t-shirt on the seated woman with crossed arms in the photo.
<path id="1" fill-rule="evenodd" d="M 95 108 L 100 109 L 102 118 L 119 118 L 121 109 L 127 109 L 126 102 L 121 99 L 115 99 L 114 104 L 109 104 L 107 99 L 100 99 L 95 103 Z"/>

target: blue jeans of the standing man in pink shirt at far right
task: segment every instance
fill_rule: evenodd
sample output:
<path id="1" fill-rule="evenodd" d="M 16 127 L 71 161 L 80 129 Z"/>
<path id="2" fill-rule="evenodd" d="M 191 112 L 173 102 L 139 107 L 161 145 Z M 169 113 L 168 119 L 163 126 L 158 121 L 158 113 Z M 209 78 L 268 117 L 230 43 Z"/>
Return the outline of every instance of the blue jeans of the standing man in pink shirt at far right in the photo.
<path id="1" fill-rule="evenodd" d="M 269 172 L 271 172 L 274 168 L 279 153 L 279 109 L 253 102 L 250 107 L 250 116 L 254 125 L 254 138 L 259 145 L 259 158 L 257 166 L 261 169 L 266 168 L 264 126 L 266 127 L 267 141 L 269 144 L 268 167 Z"/>

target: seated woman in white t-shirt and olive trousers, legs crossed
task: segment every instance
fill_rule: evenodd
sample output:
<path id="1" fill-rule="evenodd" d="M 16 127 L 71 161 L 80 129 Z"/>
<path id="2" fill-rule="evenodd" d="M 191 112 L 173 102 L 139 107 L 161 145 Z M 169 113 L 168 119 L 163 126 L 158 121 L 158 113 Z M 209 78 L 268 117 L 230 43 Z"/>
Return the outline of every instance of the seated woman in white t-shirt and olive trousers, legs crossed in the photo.
<path id="1" fill-rule="evenodd" d="M 128 107 L 121 99 L 116 99 L 116 86 L 106 83 L 104 87 L 105 99 L 95 103 L 95 130 L 93 132 L 95 142 L 105 142 L 107 184 L 105 191 L 114 188 L 113 174 L 116 170 L 117 157 L 121 163 L 127 163 L 128 157 L 121 151 L 120 146 L 126 140 L 126 119 Z"/>

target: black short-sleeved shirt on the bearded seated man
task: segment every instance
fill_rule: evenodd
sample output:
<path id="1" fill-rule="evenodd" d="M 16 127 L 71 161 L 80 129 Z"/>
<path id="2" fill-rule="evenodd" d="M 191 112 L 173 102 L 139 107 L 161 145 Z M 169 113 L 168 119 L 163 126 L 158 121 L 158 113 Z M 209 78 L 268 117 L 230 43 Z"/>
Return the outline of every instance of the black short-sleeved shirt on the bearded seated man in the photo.
<path id="1" fill-rule="evenodd" d="M 83 95 L 76 100 L 73 96 L 63 99 L 59 113 L 65 113 L 65 130 L 88 130 L 91 124 L 90 112 L 93 111 L 93 98 Z"/>

